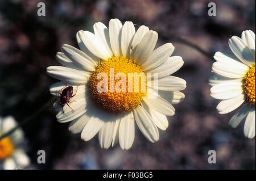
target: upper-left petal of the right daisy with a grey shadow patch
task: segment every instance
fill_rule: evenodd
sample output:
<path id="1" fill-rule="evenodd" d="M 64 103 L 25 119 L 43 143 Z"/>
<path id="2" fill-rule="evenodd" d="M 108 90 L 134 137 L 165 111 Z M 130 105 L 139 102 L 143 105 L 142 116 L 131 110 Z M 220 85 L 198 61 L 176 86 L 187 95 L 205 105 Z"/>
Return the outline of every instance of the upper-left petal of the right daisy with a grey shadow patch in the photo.
<path id="1" fill-rule="evenodd" d="M 250 48 L 247 47 L 240 37 L 232 36 L 232 38 L 229 39 L 229 47 L 243 64 L 247 66 L 255 65 L 255 57 L 253 57 Z"/>

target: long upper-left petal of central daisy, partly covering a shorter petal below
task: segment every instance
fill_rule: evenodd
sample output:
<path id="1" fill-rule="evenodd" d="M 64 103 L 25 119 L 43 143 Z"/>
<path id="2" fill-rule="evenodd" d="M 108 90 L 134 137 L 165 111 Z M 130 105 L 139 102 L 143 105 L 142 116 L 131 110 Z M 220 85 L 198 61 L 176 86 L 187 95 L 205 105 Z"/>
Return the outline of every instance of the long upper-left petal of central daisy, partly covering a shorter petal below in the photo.
<path id="1" fill-rule="evenodd" d="M 85 71 L 95 70 L 96 62 L 81 50 L 67 44 L 62 45 L 61 50 L 80 69 Z"/>

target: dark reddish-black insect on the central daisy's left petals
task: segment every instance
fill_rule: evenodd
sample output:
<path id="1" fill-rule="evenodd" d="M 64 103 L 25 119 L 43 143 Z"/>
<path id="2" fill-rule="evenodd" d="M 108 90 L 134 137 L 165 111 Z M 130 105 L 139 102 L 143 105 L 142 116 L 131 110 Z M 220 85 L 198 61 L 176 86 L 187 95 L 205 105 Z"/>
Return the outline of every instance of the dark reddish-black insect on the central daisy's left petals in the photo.
<path id="1" fill-rule="evenodd" d="M 78 87 L 77 87 L 77 89 L 78 89 Z M 76 92 L 77 92 L 77 89 L 76 89 Z M 68 107 L 71 108 L 68 103 L 71 103 L 70 99 L 76 95 L 76 92 L 73 95 L 73 87 L 72 86 L 65 86 L 61 90 L 58 91 L 60 100 L 57 103 L 59 103 L 59 106 L 61 108 L 63 108 L 65 106 L 65 104 L 67 104 Z M 75 101 L 75 100 L 73 100 L 73 101 Z M 72 108 L 71 108 L 71 110 L 74 112 L 74 110 Z M 63 110 L 63 113 L 64 113 L 64 110 Z"/>

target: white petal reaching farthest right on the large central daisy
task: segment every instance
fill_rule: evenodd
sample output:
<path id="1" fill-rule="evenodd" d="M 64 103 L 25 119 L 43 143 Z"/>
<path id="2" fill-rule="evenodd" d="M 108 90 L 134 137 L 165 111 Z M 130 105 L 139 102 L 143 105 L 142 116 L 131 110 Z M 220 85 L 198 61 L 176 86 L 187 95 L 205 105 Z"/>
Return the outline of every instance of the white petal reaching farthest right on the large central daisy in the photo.
<path id="1" fill-rule="evenodd" d="M 180 91 L 186 88 L 186 81 L 179 77 L 168 75 L 167 77 L 158 79 L 158 86 L 151 88 L 165 91 Z"/>

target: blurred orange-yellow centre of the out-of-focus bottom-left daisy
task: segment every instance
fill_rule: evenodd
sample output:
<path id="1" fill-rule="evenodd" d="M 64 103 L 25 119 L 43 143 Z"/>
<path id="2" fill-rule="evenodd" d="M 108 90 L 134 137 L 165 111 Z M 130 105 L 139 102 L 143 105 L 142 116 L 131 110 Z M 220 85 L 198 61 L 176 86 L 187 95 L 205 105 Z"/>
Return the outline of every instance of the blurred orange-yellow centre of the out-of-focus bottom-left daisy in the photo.
<path id="1" fill-rule="evenodd" d="M 5 160 L 13 154 L 14 145 L 9 137 L 0 140 L 0 161 Z"/>

